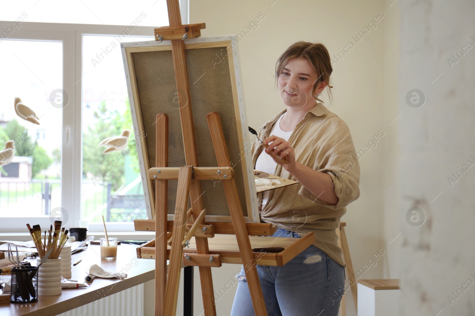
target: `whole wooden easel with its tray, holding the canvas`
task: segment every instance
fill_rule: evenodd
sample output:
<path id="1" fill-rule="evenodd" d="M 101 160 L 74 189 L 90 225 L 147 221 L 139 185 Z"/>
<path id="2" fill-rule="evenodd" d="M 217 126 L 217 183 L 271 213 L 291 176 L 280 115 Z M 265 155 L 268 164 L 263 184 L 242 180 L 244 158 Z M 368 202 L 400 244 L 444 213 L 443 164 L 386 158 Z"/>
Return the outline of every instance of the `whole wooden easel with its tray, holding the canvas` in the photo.
<path id="1" fill-rule="evenodd" d="M 313 244 L 314 236 L 308 234 L 298 239 L 260 237 L 273 235 L 276 226 L 245 221 L 234 170 L 230 167 L 226 139 L 217 112 L 209 113 L 207 121 L 218 166 L 199 167 L 183 39 L 200 36 L 200 29 L 204 28 L 205 24 L 181 25 L 178 0 L 167 0 L 167 6 L 170 26 L 156 28 L 154 31 L 156 40 L 171 40 L 176 88 L 180 93 L 186 94 L 186 98 L 178 96 L 186 165 L 168 167 L 168 116 L 165 113 L 158 114 L 155 121 L 155 167 L 150 168 L 147 175 L 142 173 L 142 177 L 147 176 L 156 183 L 155 219 L 134 221 L 135 230 L 155 231 L 154 240 L 137 248 L 138 258 L 155 259 L 155 314 L 158 316 L 176 314 L 180 270 L 183 266 L 199 266 L 204 314 L 216 316 L 211 267 L 219 267 L 224 262 L 242 263 L 246 267 L 247 285 L 255 314 L 266 316 L 266 305 L 256 265 L 282 266 Z M 186 100 L 185 104 L 182 104 L 183 99 Z M 167 200 L 168 180 L 171 179 L 178 179 L 172 220 L 169 218 Z M 204 192 L 200 182 L 204 180 L 219 181 L 223 184 L 232 222 L 206 220 L 202 200 Z M 152 198 L 150 199 L 152 201 Z M 187 211 L 189 199 L 191 208 Z M 190 217 L 193 218 L 192 222 L 189 221 Z M 167 237 L 170 234 L 171 247 L 168 247 Z M 232 235 L 236 238 L 234 239 Z M 210 245 L 208 238 L 212 238 Z M 263 254 L 253 252 L 251 245 L 254 248 L 282 247 L 284 250 L 280 253 Z M 183 253 L 184 246 L 190 246 L 187 253 Z"/>

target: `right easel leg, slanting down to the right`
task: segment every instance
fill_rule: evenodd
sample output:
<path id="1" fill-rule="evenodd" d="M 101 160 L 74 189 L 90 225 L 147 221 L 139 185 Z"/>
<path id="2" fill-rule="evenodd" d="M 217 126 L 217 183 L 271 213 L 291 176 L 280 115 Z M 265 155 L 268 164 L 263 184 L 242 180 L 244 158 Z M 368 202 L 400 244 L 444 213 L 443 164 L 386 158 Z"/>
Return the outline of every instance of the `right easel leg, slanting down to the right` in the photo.
<path id="1" fill-rule="evenodd" d="M 216 160 L 219 167 L 229 166 L 228 148 L 223 134 L 221 121 L 217 112 L 208 113 L 206 116 L 208 126 L 211 132 L 211 139 L 213 141 L 214 151 L 216 153 Z M 244 222 L 244 214 L 241 208 L 241 202 L 237 193 L 236 181 L 234 179 L 222 181 L 226 199 L 228 200 L 229 212 L 233 221 L 234 232 L 241 253 L 244 271 L 246 272 L 247 285 L 249 287 L 254 313 L 256 316 L 267 316 L 266 304 L 264 302 L 264 295 L 262 294 L 259 276 L 257 275 L 256 265 L 252 254 L 251 243 L 249 235 L 247 234 L 246 223 Z"/>

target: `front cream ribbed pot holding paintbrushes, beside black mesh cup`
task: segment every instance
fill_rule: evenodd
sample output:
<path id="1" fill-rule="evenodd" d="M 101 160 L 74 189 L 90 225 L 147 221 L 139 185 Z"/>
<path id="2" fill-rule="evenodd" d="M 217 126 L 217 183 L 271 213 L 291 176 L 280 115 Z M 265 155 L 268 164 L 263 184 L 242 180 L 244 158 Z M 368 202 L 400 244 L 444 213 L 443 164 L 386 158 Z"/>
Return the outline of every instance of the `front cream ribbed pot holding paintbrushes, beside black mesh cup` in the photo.
<path id="1" fill-rule="evenodd" d="M 37 258 L 38 265 L 41 259 Z M 38 295 L 54 296 L 61 294 L 61 258 L 48 259 L 38 268 Z"/>

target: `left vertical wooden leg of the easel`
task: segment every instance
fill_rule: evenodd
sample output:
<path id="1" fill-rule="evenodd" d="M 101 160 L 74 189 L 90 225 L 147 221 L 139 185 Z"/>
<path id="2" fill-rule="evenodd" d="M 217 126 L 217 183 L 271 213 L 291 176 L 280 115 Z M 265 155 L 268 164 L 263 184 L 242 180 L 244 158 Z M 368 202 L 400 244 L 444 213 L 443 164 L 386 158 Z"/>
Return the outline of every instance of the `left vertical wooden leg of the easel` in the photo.
<path id="1" fill-rule="evenodd" d="M 168 166 L 168 115 L 156 121 L 155 166 Z M 167 280 L 168 180 L 155 181 L 155 315 L 163 315 Z"/>

